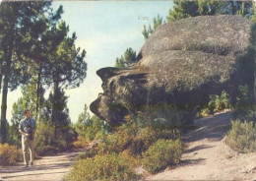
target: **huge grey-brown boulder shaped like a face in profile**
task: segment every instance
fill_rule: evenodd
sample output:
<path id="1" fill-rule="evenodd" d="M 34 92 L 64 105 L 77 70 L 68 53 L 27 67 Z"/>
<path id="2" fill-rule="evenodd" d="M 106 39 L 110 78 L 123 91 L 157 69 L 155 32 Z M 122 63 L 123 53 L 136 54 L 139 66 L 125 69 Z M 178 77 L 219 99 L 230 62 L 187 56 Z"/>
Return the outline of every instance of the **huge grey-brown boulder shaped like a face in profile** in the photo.
<path id="1" fill-rule="evenodd" d="M 246 53 L 251 23 L 239 16 L 188 18 L 160 26 L 127 69 L 96 72 L 103 93 L 91 110 L 110 125 L 145 105 L 193 107 L 209 94 L 237 93 L 237 57 Z"/>

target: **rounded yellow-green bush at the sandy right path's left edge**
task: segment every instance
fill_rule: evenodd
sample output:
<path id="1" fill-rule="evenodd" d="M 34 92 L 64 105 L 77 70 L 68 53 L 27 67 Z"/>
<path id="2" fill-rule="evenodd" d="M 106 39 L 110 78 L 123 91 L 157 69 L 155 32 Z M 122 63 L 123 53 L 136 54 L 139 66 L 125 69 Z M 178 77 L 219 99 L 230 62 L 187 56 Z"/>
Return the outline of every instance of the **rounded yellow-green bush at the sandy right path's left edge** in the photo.
<path id="1" fill-rule="evenodd" d="M 143 153 L 143 166 L 156 173 L 170 164 L 177 164 L 183 151 L 181 141 L 159 140 L 148 151 Z"/>

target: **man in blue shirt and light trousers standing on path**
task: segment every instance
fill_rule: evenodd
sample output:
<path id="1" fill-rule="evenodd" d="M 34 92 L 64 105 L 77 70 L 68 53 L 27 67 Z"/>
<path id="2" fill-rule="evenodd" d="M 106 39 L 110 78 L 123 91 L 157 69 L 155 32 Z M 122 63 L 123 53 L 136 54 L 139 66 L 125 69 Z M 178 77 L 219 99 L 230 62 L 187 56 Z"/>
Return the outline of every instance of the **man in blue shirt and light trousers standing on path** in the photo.
<path id="1" fill-rule="evenodd" d="M 33 140 L 34 133 L 36 130 L 35 120 L 31 116 L 31 111 L 28 109 L 24 112 L 25 118 L 21 120 L 19 124 L 19 132 L 22 134 L 22 147 L 24 154 L 24 163 L 25 167 L 29 166 L 29 150 L 30 150 L 30 158 L 31 165 L 33 164 Z"/>

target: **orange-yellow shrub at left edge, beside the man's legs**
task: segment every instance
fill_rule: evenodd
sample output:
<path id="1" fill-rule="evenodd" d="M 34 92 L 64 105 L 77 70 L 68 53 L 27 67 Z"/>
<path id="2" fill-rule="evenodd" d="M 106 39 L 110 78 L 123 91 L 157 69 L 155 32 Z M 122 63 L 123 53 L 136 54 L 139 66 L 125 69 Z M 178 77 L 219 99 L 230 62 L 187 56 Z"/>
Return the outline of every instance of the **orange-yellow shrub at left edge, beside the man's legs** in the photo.
<path id="1" fill-rule="evenodd" d="M 15 164 L 17 161 L 21 161 L 22 157 L 23 151 L 18 150 L 16 146 L 0 144 L 0 165 Z"/>

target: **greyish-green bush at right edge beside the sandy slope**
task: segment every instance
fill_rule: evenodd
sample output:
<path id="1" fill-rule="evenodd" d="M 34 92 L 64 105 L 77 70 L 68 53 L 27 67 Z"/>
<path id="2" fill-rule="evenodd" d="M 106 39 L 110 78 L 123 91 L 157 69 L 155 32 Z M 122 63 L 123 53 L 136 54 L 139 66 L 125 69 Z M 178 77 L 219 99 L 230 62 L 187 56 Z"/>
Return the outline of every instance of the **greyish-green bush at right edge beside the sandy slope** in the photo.
<path id="1" fill-rule="evenodd" d="M 253 122 L 232 121 L 225 143 L 234 151 L 256 151 L 256 126 Z"/>

